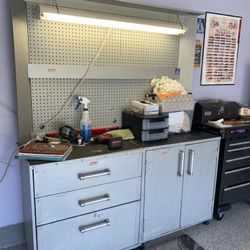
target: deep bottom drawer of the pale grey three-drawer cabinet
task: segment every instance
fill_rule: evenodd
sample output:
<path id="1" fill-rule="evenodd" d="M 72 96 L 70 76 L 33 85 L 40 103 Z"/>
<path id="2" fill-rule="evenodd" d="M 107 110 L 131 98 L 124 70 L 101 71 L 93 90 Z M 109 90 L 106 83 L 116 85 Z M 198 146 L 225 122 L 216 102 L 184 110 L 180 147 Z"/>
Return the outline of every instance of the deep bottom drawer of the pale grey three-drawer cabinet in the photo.
<path id="1" fill-rule="evenodd" d="M 39 226 L 39 250 L 118 250 L 139 240 L 140 202 Z"/>

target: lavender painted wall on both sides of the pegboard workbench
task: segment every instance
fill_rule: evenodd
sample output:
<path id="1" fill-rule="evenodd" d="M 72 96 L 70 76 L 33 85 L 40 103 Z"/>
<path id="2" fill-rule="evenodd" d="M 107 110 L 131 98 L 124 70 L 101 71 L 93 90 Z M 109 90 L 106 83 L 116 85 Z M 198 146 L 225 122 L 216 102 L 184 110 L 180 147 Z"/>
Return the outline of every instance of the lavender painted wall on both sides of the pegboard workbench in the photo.
<path id="1" fill-rule="evenodd" d="M 154 6 L 211 11 L 243 17 L 241 43 L 238 58 L 237 79 L 234 86 L 200 86 L 193 83 L 193 94 L 196 98 L 224 98 L 237 101 L 249 101 L 250 91 L 250 1 L 249 0 L 135 0 Z M 0 102 L 15 110 L 15 83 L 12 52 L 10 1 L 0 1 Z M 0 175 L 9 156 L 16 147 L 16 116 L 0 106 Z M 14 160 L 3 183 L 0 184 L 0 227 L 22 222 L 22 200 L 20 185 L 20 169 Z"/>

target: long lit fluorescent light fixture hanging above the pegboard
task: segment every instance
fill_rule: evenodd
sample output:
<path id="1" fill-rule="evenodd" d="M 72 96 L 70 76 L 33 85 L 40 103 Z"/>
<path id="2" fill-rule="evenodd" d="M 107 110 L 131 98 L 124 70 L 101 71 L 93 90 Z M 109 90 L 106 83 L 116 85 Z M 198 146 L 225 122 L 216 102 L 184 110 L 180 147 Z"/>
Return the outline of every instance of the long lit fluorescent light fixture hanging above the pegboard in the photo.
<path id="1" fill-rule="evenodd" d="M 69 13 L 69 11 L 71 13 Z M 55 8 L 53 6 L 42 5 L 40 5 L 40 18 L 49 21 L 154 32 L 169 35 L 180 35 L 184 34 L 186 31 L 178 23 L 110 15 L 106 13 L 78 11 L 61 7 Z"/>

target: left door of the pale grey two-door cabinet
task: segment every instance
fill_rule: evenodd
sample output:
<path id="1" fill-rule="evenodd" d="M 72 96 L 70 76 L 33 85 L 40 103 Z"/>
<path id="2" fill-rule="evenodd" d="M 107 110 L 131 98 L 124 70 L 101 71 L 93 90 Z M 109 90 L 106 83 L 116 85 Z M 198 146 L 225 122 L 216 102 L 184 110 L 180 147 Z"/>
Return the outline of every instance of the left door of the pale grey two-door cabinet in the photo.
<path id="1" fill-rule="evenodd" d="M 146 152 L 144 241 L 179 228 L 184 147 Z"/>

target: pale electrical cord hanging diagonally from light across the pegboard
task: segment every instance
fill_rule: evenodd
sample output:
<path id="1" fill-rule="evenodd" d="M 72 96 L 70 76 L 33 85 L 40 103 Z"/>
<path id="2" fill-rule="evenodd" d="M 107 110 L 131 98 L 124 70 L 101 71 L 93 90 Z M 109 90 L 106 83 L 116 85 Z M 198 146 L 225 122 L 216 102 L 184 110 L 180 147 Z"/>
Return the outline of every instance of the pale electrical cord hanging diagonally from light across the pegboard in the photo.
<path id="1" fill-rule="evenodd" d="M 82 83 L 85 81 L 87 73 L 88 73 L 89 70 L 93 67 L 95 61 L 98 59 L 99 55 L 101 54 L 102 49 L 103 49 L 104 45 L 106 44 L 106 42 L 107 42 L 107 40 L 108 40 L 108 38 L 109 38 L 109 35 L 110 35 L 111 30 L 112 30 L 112 28 L 109 28 L 109 30 L 108 30 L 108 32 L 107 32 L 107 35 L 106 35 L 105 39 L 103 40 L 103 43 L 101 44 L 101 46 L 100 46 L 100 48 L 99 48 L 97 54 L 95 55 L 94 59 L 92 60 L 92 62 L 91 62 L 91 63 L 89 64 L 89 66 L 87 67 L 87 69 L 86 69 L 86 71 L 85 71 L 83 77 L 80 79 L 80 81 L 77 83 L 77 85 L 73 88 L 73 90 L 71 91 L 69 97 L 68 97 L 68 98 L 66 99 L 66 101 L 63 103 L 63 105 L 61 106 L 61 108 L 56 112 L 56 114 L 55 114 L 54 116 L 52 116 L 49 120 L 45 121 L 43 124 L 41 124 L 41 125 L 39 126 L 39 128 L 40 128 L 41 130 L 45 128 L 45 125 L 47 125 L 48 123 L 54 121 L 55 118 L 62 112 L 62 110 L 64 109 L 64 107 L 65 107 L 66 105 L 69 104 L 71 98 L 72 98 L 72 97 L 74 96 L 74 94 L 75 94 L 75 91 L 76 91 L 77 88 L 80 86 L 80 84 L 82 84 Z"/>

